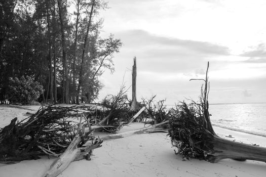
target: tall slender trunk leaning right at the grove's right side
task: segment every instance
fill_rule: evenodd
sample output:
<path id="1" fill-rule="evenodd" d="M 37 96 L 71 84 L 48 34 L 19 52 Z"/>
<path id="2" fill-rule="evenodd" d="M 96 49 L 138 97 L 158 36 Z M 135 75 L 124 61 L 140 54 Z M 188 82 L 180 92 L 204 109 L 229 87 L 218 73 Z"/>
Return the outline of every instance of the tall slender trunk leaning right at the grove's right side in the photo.
<path id="1" fill-rule="evenodd" d="M 79 84 L 78 84 L 78 96 L 76 99 L 76 104 L 79 104 L 79 95 L 80 95 L 80 91 L 81 91 L 81 86 L 82 86 L 82 81 L 83 81 L 83 65 L 84 65 L 84 57 L 85 57 L 85 49 L 87 46 L 87 39 L 88 39 L 88 35 L 89 35 L 89 31 L 90 31 L 90 27 L 91 27 L 91 19 L 92 19 L 92 14 L 93 14 L 93 8 L 94 8 L 94 2 L 95 0 L 92 0 L 92 6 L 91 6 L 91 12 L 90 12 L 90 17 L 89 17 L 89 23 L 87 26 L 87 31 L 86 31 L 86 35 L 84 38 L 84 44 L 83 44 L 83 50 L 82 50 L 82 58 L 81 58 L 81 69 L 80 69 L 80 75 L 79 75 Z"/>

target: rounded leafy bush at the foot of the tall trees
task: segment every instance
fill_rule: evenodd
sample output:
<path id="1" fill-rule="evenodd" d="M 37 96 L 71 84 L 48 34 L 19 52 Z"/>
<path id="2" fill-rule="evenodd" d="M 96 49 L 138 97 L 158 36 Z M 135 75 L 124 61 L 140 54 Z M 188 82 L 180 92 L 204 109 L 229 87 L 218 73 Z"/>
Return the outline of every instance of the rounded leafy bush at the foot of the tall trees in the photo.
<path id="1" fill-rule="evenodd" d="M 10 77 L 7 99 L 10 103 L 30 104 L 31 101 L 37 100 L 44 92 L 43 86 L 39 82 L 34 82 L 29 76 Z"/>

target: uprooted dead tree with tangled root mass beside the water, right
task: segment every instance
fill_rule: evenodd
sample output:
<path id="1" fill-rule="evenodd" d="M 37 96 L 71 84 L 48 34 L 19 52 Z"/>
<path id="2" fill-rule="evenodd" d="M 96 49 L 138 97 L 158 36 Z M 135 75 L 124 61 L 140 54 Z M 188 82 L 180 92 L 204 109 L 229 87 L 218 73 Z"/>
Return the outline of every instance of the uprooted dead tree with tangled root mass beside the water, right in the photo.
<path id="1" fill-rule="evenodd" d="M 266 162 L 266 148 L 225 140 L 215 134 L 208 111 L 208 68 L 209 63 L 205 79 L 192 79 L 205 82 L 200 103 L 181 103 L 176 114 L 169 119 L 169 135 L 172 144 L 178 148 L 176 153 L 210 162 L 226 158 Z"/>

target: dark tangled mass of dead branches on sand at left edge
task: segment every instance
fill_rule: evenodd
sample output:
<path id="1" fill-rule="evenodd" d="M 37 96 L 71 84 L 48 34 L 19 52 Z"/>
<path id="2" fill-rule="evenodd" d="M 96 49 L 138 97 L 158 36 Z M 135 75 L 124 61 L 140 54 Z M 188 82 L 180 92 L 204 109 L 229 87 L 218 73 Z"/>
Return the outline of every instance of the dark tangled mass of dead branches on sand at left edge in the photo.
<path id="1" fill-rule="evenodd" d="M 72 121 L 80 116 L 79 108 L 51 105 L 41 107 L 20 122 L 14 118 L 0 129 L 0 163 L 37 159 L 40 155 L 60 156 L 78 129 Z M 90 125 L 90 122 L 87 121 L 87 124 Z"/>

